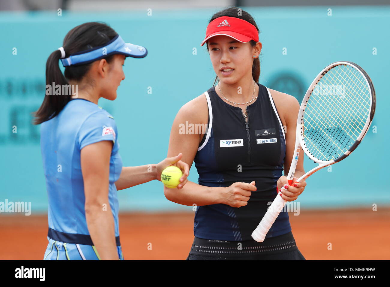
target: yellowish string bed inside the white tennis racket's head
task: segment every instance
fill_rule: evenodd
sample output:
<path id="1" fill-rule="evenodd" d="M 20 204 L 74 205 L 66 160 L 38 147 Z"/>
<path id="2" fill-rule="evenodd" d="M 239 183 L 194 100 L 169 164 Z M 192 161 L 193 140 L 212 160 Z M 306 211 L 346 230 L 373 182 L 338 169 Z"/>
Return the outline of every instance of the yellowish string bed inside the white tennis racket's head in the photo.
<path id="1" fill-rule="evenodd" d="M 305 107 L 307 149 L 321 160 L 340 157 L 363 131 L 370 106 L 370 89 L 360 71 L 347 65 L 330 69 L 317 82 Z"/>

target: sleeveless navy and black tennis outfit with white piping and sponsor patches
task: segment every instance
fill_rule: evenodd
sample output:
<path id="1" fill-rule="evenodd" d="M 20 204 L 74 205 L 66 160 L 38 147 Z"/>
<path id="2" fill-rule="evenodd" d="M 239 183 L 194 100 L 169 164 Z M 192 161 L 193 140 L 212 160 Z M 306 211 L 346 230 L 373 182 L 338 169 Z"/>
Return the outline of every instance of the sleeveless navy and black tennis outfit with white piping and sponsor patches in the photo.
<path id="1" fill-rule="evenodd" d="M 194 159 L 199 184 L 229 187 L 234 182 L 250 183 L 255 180 L 257 191 L 252 192 L 248 204 L 243 207 L 235 208 L 226 204 L 197 207 L 195 240 L 188 257 L 190 260 L 206 255 L 241 256 L 248 259 L 245 250 L 236 250 L 237 242 L 244 242 L 248 250 L 257 249 L 258 252 L 251 254 L 269 254 L 272 257 L 275 250 L 271 249 L 275 249 L 275 246 L 267 247 L 267 242 L 272 241 L 272 238 L 275 238 L 273 243 L 276 242 L 276 248 L 280 245 L 278 250 L 297 250 L 287 212 L 279 214 L 264 242 L 256 242 L 251 236 L 277 195 L 277 180 L 282 176 L 286 150 L 284 128 L 271 93 L 267 87 L 257 85 L 258 98 L 247 106 L 248 123 L 242 110 L 222 100 L 216 94 L 215 87 L 204 93 L 209 122 L 207 134 L 200 142 Z M 211 255 L 213 246 L 216 252 Z M 227 248 L 226 252 L 233 247 L 233 253 L 224 253 L 221 249 L 223 246 Z"/>

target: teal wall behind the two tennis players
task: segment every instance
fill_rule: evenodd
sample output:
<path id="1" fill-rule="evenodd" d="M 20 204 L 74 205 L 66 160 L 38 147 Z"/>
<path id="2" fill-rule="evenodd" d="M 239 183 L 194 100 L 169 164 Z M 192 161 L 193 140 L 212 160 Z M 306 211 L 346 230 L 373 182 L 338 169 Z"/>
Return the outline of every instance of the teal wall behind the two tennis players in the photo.
<path id="1" fill-rule="evenodd" d="M 347 160 L 307 180 L 301 207 L 389 205 L 388 67 L 390 7 L 246 8 L 261 30 L 260 83 L 303 96 L 317 73 L 335 61 L 353 61 L 372 78 L 377 94 L 373 128 Z M 124 166 L 157 163 L 167 155 L 170 128 L 182 105 L 213 85 L 206 46 L 200 47 L 209 18 L 219 9 L 67 13 L 0 13 L 0 201 L 31 201 L 32 212 L 47 210 L 39 126 L 30 112 L 41 104 L 48 55 L 81 23 L 105 21 L 129 43 L 147 47 L 144 59 L 127 58 L 126 79 L 117 100 L 99 105 L 115 117 Z M 17 55 L 12 48 L 17 48 Z M 193 48 L 197 54 L 193 55 Z M 282 49 L 287 48 L 287 55 Z M 373 48 L 377 55 L 373 55 Z M 152 87 L 152 94 L 147 93 Z M 12 133 L 12 126 L 18 132 Z M 305 169 L 314 167 L 305 159 Z M 197 182 L 195 166 L 190 180 Z M 119 191 L 121 210 L 191 210 L 165 199 L 161 182 Z"/>

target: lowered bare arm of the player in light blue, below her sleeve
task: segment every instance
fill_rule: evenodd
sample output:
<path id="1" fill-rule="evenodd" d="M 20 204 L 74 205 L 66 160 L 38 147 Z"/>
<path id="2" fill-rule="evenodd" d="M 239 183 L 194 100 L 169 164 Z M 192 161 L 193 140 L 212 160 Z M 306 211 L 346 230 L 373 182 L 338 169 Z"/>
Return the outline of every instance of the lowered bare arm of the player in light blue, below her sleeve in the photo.
<path id="1" fill-rule="evenodd" d="M 101 260 L 118 260 L 114 218 L 108 201 L 112 141 L 99 141 L 81 150 L 85 218 Z M 96 155 L 99 155 L 97 157 Z M 103 209 L 103 207 L 106 207 Z"/>

